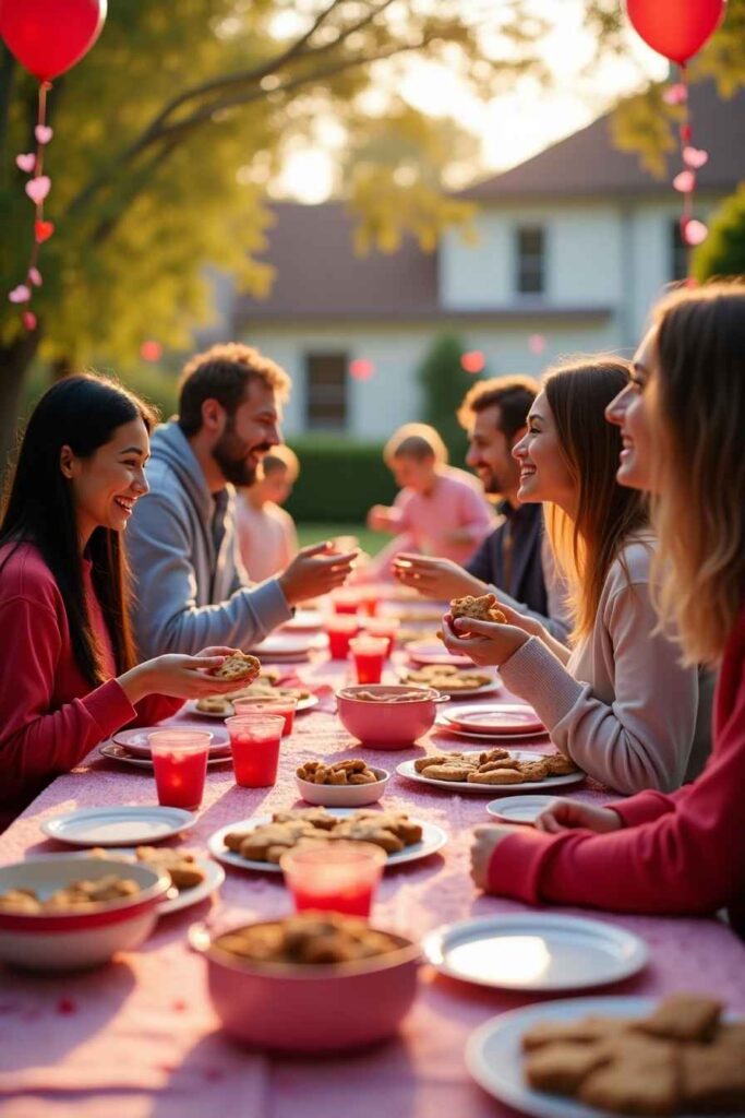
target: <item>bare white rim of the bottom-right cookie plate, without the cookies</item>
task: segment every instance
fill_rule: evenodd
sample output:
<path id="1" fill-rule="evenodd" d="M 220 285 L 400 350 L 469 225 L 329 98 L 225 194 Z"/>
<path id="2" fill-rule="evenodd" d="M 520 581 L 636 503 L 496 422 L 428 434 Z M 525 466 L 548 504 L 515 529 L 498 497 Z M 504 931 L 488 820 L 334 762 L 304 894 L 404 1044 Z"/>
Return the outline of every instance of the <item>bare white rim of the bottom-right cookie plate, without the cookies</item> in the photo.
<path id="1" fill-rule="evenodd" d="M 579 1021 L 588 1015 L 640 1017 L 657 1001 L 647 997 L 573 997 L 541 1002 L 491 1017 L 466 1044 L 466 1064 L 476 1082 L 495 1099 L 533 1118 L 617 1118 L 608 1110 L 586 1107 L 577 1099 L 534 1091 L 523 1079 L 523 1033 L 538 1021 Z M 679 1118 L 691 1118 L 680 1115 Z"/>

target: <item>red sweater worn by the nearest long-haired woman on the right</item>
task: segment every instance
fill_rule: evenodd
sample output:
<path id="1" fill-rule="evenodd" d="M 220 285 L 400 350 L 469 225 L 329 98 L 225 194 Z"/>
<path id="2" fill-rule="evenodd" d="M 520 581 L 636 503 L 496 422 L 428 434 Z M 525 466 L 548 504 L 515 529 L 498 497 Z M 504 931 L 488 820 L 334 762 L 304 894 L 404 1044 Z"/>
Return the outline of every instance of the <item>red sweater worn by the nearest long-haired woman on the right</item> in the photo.
<path id="1" fill-rule="evenodd" d="M 666 697 L 660 695 L 660 702 Z M 490 892 L 618 912 L 707 913 L 728 908 L 745 932 L 745 609 L 722 663 L 714 751 L 678 792 L 610 804 L 620 831 L 547 835 L 528 827 L 496 847 Z"/>

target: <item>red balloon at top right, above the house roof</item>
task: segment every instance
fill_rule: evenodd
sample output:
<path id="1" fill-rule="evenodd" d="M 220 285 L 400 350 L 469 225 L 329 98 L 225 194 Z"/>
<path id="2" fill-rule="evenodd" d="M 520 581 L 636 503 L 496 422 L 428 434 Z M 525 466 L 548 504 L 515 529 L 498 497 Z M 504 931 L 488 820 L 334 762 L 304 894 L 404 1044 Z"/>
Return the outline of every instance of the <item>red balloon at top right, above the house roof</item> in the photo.
<path id="1" fill-rule="evenodd" d="M 714 35 L 726 0 L 627 0 L 627 11 L 644 42 L 682 66 Z"/>

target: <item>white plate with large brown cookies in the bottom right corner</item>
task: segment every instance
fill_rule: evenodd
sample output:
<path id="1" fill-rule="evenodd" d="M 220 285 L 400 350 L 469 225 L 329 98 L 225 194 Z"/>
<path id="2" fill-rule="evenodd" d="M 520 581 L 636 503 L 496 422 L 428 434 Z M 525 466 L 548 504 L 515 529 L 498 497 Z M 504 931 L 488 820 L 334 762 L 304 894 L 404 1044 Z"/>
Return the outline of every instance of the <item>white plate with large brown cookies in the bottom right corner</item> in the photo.
<path id="1" fill-rule="evenodd" d="M 745 1114 L 745 1020 L 706 995 L 512 1010 L 470 1035 L 466 1064 L 485 1091 L 534 1118 Z"/>

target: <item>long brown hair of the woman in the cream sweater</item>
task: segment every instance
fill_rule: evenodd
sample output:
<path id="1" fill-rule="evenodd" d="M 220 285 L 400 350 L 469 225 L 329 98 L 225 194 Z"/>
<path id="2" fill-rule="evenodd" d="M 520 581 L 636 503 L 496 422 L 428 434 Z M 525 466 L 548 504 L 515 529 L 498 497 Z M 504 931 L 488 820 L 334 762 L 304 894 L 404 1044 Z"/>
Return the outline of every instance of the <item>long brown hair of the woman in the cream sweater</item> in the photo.
<path id="1" fill-rule="evenodd" d="M 605 421 L 611 400 L 629 382 L 629 363 L 615 357 L 584 358 L 548 370 L 543 389 L 570 476 L 577 489 L 576 519 L 546 508 L 546 532 L 571 587 L 574 641 L 594 623 L 611 565 L 634 533 L 647 527 L 647 500 L 623 489 L 615 474 L 621 433 Z"/>

